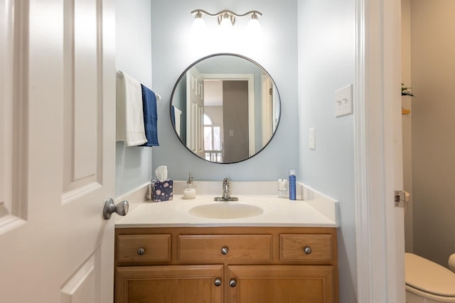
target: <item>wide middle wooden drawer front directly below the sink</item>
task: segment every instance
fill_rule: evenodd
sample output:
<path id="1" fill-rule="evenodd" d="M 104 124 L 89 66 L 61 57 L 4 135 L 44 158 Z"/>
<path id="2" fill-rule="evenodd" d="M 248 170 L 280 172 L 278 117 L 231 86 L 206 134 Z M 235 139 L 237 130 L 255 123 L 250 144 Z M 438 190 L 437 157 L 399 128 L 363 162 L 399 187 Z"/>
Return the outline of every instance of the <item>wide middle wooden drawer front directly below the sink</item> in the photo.
<path id="1" fill-rule="evenodd" d="M 272 260 L 272 236 L 181 235 L 178 260 Z"/>

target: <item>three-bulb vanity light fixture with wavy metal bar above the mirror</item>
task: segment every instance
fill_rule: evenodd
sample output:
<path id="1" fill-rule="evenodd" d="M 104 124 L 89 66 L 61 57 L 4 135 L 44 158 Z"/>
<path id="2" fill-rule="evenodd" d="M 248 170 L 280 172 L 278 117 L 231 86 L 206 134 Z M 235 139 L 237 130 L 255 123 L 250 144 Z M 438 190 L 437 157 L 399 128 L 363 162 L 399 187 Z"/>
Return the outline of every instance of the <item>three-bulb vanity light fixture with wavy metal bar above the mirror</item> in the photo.
<path id="1" fill-rule="evenodd" d="M 193 28 L 197 27 L 198 24 L 203 23 L 203 16 L 209 16 L 209 17 L 216 17 L 218 18 L 218 24 L 223 28 L 232 28 L 235 24 L 235 18 L 242 18 L 245 16 L 250 16 L 250 21 L 248 23 L 248 28 L 255 28 L 255 31 L 257 31 L 257 28 L 260 30 L 260 24 L 259 24 L 259 18 L 258 16 L 262 16 L 262 13 L 259 11 L 248 11 L 247 13 L 234 13 L 233 11 L 230 11 L 228 9 L 225 9 L 224 11 L 219 11 L 218 13 L 208 13 L 207 11 L 204 11 L 203 9 L 195 9 L 194 11 L 191 11 L 192 15 L 194 16 L 194 23 L 193 23 Z"/>

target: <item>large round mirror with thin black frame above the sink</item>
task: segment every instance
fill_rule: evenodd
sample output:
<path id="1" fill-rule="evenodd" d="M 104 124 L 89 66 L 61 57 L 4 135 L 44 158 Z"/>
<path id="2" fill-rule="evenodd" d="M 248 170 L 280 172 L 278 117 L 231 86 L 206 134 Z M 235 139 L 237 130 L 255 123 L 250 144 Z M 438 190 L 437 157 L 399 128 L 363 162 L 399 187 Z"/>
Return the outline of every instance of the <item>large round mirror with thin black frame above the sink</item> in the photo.
<path id="1" fill-rule="evenodd" d="M 269 73 L 236 54 L 210 55 L 190 65 L 173 88 L 170 107 L 181 143 L 216 163 L 240 162 L 263 150 L 281 111 Z"/>

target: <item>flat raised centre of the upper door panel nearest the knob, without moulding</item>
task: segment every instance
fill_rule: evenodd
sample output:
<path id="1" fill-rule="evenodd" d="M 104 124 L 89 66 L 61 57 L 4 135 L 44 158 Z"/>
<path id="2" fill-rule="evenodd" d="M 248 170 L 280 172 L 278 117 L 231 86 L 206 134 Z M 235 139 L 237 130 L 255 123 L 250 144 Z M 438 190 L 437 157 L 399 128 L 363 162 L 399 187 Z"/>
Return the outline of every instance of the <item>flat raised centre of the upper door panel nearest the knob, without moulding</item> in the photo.
<path id="1" fill-rule="evenodd" d="M 75 0 L 73 6 L 73 39 L 67 39 L 73 45 L 73 178 L 79 180 L 95 175 L 97 165 L 97 138 L 100 138 L 98 111 L 100 95 L 98 84 L 100 73 L 97 65 L 98 31 L 97 1 Z M 68 31 L 67 31 L 68 33 Z M 68 69 L 67 69 L 68 70 Z M 66 101 L 69 101 L 68 99 Z M 68 123 L 68 121 L 66 121 Z"/>

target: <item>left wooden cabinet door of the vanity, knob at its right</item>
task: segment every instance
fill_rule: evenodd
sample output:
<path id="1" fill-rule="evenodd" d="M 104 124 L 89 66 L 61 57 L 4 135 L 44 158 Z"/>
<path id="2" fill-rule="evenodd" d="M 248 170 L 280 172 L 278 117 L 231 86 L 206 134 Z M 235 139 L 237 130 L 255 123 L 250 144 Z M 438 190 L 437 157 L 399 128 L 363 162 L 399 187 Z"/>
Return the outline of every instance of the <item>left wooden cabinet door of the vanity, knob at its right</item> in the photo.
<path id="1" fill-rule="evenodd" d="M 221 303 L 222 278 L 223 265 L 117 267 L 115 303 Z"/>

